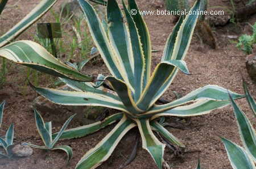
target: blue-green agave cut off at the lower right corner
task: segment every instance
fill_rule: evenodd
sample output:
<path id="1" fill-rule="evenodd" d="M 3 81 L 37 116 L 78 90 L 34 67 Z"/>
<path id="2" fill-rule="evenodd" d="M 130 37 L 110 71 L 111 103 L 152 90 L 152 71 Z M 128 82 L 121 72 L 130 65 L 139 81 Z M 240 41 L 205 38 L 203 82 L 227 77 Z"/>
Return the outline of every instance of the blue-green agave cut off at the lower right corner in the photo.
<path id="1" fill-rule="evenodd" d="M 243 82 L 243 88 L 245 90 L 246 98 L 250 108 L 253 112 L 255 112 L 256 103 L 251 97 L 245 82 Z M 221 138 L 221 140 L 224 143 L 226 152 L 228 153 L 228 157 L 233 168 L 256 168 L 255 129 L 253 128 L 253 125 L 251 125 L 251 122 L 246 117 L 245 113 L 243 113 L 236 102 L 234 102 L 232 96 L 230 96 L 230 100 L 233 105 L 234 115 L 236 116 L 240 137 L 245 149 L 226 138 Z"/>

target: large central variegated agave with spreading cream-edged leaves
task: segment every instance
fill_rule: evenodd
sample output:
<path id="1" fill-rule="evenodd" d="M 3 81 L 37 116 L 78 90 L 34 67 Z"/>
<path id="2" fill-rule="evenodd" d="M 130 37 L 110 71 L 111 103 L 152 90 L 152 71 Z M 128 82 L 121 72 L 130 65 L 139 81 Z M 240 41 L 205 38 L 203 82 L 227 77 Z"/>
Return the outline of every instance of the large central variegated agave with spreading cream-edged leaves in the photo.
<path id="1" fill-rule="evenodd" d="M 106 77 L 105 81 L 109 81 L 115 94 L 106 92 L 106 88 L 103 86 L 94 88 L 92 82 L 81 82 L 74 80 L 74 78 L 67 78 L 68 75 L 63 75 L 61 79 L 76 91 L 33 88 L 40 95 L 57 104 L 102 106 L 122 111 L 107 117 L 103 121 L 64 131 L 60 139 L 78 138 L 119 121 L 103 140 L 86 152 L 77 163 L 76 168 L 96 168 L 100 166 L 102 162 L 110 157 L 122 137 L 135 126 L 138 126 L 141 134 L 143 148 L 151 154 L 158 168 L 162 168 L 165 145 L 156 138 L 152 130 L 156 130 L 168 141 L 178 146 L 184 145 L 160 125 L 156 118 L 161 116 L 188 117 L 204 115 L 210 113 L 213 109 L 230 104 L 228 91 L 225 88 L 213 85 L 198 88 L 168 104 L 156 104 L 156 101 L 170 86 L 178 70 L 189 74 L 184 58 L 199 17 L 196 11 L 201 10 L 200 1 L 196 1 L 191 8 L 193 15 L 180 18 L 177 22 L 168 37 L 162 61 L 156 66 L 152 75 L 150 73 L 150 35 L 139 12 L 136 15 L 130 14 L 130 10 L 139 11 L 134 0 L 128 1 L 129 10 L 123 3 L 123 12 L 119 9 L 115 0 L 108 1 L 108 33 L 105 32 L 93 7 L 85 0 L 79 0 L 79 3 L 88 22 L 94 43 L 112 74 Z M 31 41 L 21 41 L 20 44 L 22 43 L 34 44 Z M 13 43 L 9 45 L 9 48 L 8 46 L 5 48 L 12 50 L 10 48 L 12 45 L 20 44 Z M 34 47 L 38 47 L 38 45 L 30 45 L 30 48 L 21 46 L 19 50 L 12 50 L 12 52 L 16 57 L 19 56 L 19 53 L 26 53 L 27 56 L 30 56 L 29 51 Z M 40 57 L 40 54 L 38 57 Z M 55 58 L 51 56 L 51 60 L 55 60 Z M 59 67 L 55 68 L 55 72 L 59 71 Z M 65 72 L 61 71 L 61 74 L 65 74 Z M 243 95 L 229 92 L 233 99 L 243 98 Z M 53 137 L 56 135 L 57 133 L 53 134 Z"/>

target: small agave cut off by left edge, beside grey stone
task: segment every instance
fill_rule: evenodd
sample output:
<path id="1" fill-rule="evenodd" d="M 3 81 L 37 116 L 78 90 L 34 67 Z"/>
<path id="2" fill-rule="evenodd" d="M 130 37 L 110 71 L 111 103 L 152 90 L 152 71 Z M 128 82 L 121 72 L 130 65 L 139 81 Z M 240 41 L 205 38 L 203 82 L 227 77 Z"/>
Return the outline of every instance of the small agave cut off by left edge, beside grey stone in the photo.
<path id="1" fill-rule="evenodd" d="M 2 120 L 3 120 L 3 108 L 5 107 L 5 101 L 3 101 L 0 104 L 0 126 L 2 125 Z M 12 156 L 11 153 L 11 145 L 13 145 L 13 138 L 14 138 L 14 125 L 11 124 L 9 129 L 7 130 L 5 134 L 5 138 L 0 137 L 0 143 L 3 149 L 5 150 L 5 154 L 0 152 L 0 155 L 3 157 L 10 158 Z"/>

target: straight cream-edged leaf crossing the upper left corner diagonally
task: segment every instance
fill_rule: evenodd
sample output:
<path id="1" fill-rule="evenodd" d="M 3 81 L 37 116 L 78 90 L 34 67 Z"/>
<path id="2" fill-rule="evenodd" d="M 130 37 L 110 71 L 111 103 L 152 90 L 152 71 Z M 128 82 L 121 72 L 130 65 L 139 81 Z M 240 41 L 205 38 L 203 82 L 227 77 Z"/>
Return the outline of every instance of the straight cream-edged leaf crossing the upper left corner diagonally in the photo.
<path id="1" fill-rule="evenodd" d="M 18 36 L 32 23 L 41 18 L 55 3 L 57 0 L 43 0 L 37 5 L 25 18 L 20 20 L 10 31 L 0 37 L 0 47 L 10 42 L 11 39 Z"/>

